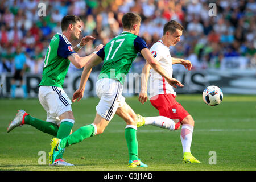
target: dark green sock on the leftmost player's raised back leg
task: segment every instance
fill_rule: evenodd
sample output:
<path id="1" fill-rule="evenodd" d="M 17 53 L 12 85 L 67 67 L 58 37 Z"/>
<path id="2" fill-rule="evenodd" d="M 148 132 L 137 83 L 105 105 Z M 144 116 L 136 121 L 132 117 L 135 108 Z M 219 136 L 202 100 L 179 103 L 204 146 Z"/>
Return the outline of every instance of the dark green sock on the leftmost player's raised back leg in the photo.
<path id="1" fill-rule="evenodd" d="M 30 115 L 26 115 L 24 120 L 25 124 L 34 126 L 36 129 L 43 131 L 44 133 L 53 135 L 54 137 L 57 136 L 59 128 L 54 123 L 42 121 L 40 119 L 31 117 Z"/>

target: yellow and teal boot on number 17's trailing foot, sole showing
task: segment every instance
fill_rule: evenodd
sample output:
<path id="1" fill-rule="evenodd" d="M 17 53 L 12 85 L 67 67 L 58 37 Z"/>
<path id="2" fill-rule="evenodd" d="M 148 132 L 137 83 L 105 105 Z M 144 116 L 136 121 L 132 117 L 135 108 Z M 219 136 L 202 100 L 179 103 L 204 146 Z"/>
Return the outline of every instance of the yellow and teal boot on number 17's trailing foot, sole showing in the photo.
<path id="1" fill-rule="evenodd" d="M 51 151 L 49 152 L 49 164 L 53 164 L 56 159 L 59 159 L 57 156 L 62 156 L 64 149 L 60 147 L 61 139 L 53 138 L 51 140 Z"/>

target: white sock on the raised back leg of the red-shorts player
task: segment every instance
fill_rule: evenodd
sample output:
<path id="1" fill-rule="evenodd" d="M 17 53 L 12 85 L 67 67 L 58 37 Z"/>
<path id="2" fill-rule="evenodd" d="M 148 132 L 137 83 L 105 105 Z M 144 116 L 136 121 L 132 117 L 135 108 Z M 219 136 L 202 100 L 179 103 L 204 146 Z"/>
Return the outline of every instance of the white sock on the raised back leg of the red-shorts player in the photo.
<path id="1" fill-rule="evenodd" d="M 144 117 L 144 119 L 145 125 L 154 125 L 172 131 L 175 129 L 175 122 L 172 119 L 164 116 Z"/>

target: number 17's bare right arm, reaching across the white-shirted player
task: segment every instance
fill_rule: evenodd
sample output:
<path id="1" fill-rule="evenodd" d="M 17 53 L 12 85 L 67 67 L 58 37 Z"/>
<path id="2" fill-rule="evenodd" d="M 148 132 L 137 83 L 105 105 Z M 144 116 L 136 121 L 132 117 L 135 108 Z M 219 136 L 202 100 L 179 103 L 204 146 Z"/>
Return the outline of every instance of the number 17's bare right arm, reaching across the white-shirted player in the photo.
<path id="1" fill-rule="evenodd" d="M 141 54 L 144 57 L 144 59 L 146 59 L 147 63 L 150 64 L 150 66 L 156 72 L 163 76 L 171 86 L 173 86 L 174 88 L 177 88 L 176 85 L 181 87 L 184 86 L 183 84 L 181 84 L 179 80 L 176 80 L 175 78 L 170 78 L 170 76 L 166 73 L 166 71 L 164 71 L 164 69 L 161 67 L 158 61 L 156 61 L 155 58 L 151 55 L 151 52 L 148 48 L 142 49 Z"/>

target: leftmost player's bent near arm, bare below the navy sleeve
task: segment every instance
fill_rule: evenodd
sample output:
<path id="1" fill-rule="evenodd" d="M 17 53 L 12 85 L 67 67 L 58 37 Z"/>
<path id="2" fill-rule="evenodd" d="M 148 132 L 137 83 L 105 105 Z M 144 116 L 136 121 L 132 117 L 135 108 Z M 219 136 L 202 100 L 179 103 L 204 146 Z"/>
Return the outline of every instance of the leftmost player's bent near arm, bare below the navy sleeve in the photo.
<path id="1" fill-rule="evenodd" d="M 96 46 L 96 48 L 94 48 L 94 52 L 99 51 L 101 48 L 103 47 L 102 44 Z M 71 61 L 71 63 L 76 67 L 76 68 L 82 68 L 84 67 L 84 65 L 88 62 L 88 60 L 90 60 L 90 58 L 93 57 L 93 55 L 95 55 L 95 53 L 91 53 L 88 56 L 84 56 L 84 57 L 80 57 L 77 53 L 72 53 L 71 55 L 68 56 L 69 61 Z"/>

